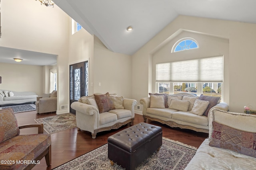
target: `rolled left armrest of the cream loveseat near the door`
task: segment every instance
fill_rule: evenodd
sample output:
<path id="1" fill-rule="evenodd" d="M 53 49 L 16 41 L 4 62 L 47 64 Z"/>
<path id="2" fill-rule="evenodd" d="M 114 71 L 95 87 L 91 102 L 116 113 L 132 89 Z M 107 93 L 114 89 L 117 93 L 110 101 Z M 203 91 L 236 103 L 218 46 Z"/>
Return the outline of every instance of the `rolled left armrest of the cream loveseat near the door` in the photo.
<path id="1" fill-rule="evenodd" d="M 100 114 L 96 107 L 82 102 L 73 102 L 71 108 L 86 115 Z"/>

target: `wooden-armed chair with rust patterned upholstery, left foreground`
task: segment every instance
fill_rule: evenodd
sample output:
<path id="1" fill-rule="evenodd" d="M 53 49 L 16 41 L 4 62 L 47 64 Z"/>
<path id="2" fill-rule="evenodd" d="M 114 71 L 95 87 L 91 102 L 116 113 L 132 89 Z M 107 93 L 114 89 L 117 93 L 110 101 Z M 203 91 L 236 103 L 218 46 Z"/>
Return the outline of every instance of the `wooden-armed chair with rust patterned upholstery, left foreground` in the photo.
<path id="1" fill-rule="evenodd" d="M 20 135 L 20 129 L 28 127 L 37 127 L 38 134 Z M 1 109 L 0 170 L 30 170 L 43 157 L 46 159 L 47 166 L 50 166 L 51 136 L 43 133 L 42 123 L 18 126 L 12 108 Z M 30 162 L 22 163 L 24 161 Z"/>

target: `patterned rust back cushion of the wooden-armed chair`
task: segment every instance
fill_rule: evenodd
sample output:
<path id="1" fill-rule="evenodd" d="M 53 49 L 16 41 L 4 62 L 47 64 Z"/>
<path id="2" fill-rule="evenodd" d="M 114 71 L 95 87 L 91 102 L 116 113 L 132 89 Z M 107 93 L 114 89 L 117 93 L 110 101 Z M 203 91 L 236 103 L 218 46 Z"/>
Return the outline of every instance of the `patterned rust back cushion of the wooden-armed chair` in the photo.
<path id="1" fill-rule="evenodd" d="M 13 110 L 11 108 L 2 109 L 0 114 L 0 143 L 19 134 L 20 129 Z"/>

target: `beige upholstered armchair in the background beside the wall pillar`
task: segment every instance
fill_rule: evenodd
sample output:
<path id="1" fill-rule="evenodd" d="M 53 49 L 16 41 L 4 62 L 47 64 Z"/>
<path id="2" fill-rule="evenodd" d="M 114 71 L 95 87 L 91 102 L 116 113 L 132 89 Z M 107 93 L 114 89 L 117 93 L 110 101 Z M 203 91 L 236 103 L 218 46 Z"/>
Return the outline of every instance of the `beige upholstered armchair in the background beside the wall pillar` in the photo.
<path id="1" fill-rule="evenodd" d="M 56 112 L 57 110 L 57 91 L 50 94 L 43 94 L 36 98 L 36 112 L 39 114 Z"/>

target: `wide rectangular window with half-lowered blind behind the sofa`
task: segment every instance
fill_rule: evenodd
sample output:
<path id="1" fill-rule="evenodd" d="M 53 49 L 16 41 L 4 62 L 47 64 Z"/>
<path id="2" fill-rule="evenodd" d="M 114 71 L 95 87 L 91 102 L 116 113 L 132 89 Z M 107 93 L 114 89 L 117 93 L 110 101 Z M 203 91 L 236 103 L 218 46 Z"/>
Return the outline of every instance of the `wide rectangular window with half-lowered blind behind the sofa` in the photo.
<path id="1" fill-rule="evenodd" d="M 222 82 L 223 56 L 156 64 L 157 92 L 221 96 Z"/>

